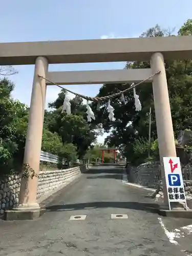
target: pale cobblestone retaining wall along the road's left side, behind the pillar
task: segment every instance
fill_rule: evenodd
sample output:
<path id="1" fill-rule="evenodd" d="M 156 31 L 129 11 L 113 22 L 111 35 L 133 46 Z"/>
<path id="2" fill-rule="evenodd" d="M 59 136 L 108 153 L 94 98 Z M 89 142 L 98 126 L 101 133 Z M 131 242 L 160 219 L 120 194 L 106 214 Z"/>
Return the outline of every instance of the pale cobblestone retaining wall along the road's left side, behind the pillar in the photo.
<path id="1" fill-rule="evenodd" d="M 64 170 L 41 171 L 38 175 L 37 200 L 59 186 L 69 183 L 80 173 L 79 166 Z M 18 204 L 20 181 L 19 175 L 11 175 L 0 180 L 0 214 Z"/>

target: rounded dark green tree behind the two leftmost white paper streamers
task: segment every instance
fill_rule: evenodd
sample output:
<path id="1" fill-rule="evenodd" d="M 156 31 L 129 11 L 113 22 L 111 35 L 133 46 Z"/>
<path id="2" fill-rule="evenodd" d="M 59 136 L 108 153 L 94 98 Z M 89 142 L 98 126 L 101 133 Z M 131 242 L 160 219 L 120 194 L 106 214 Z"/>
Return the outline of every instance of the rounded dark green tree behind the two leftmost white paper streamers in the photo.
<path id="1" fill-rule="evenodd" d="M 61 113 L 64 98 L 65 91 L 61 90 L 58 98 L 49 104 L 49 107 L 55 110 L 46 114 L 45 123 L 52 133 L 56 132 L 61 136 L 63 144 L 74 144 L 78 157 L 82 158 L 91 143 L 95 141 L 98 134 L 95 129 L 98 127 L 94 122 L 87 122 L 87 110 L 82 99 L 71 100 L 71 115 L 67 115 L 65 112 Z"/>

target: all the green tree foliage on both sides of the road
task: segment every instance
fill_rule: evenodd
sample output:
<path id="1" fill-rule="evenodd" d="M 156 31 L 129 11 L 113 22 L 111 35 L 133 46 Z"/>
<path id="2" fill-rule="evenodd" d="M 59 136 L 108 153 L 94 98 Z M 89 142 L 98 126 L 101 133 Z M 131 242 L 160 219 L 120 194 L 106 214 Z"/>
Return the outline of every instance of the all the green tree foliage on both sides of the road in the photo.
<path id="1" fill-rule="evenodd" d="M 161 29 L 159 25 L 148 29 L 141 37 L 175 36 L 174 30 Z M 177 36 L 192 35 L 192 19 L 188 19 L 180 28 Z M 148 61 L 127 62 L 126 69 L 150 68 Z M 191 129 L 192 126 L 192 61 L 165 60 L 170 107 L 172 111 L 175 137 L 181 130 Z M 7 74 L 6 74 L 7 72 Z M 12 67 L 1 68 L 0 75 L 11 75 Z M 98 96 L 106 96 L 122 91 L 131 84 L 104 84 Z M 14 84 L 3 78 L 0 80 L 0 169 L 1 173 L 17 170 L 23 161 L 25 138 L 28 124 L 27 106 L 11 97 Z M 105 142 L 109 146 L 118 146 L 124 155 L 135 164 L 148 160 L 148 150 L 151 159 L 158 159 L 158 143 L 156 119 L 154 110 L 153 89 L 151 83 L 141 84 L 136 88 L 142 110 L 135 111 L 133 91 L 124 95 L 125 103 L 119 98 L 111 104 L 115 108 L 115 122 L 110 122 L 106 110 L 107 103 L 96 111 L 96 104 L 92 109 L 96 120 L 87 122 L 86 105 L 82 99 L 71 100 L 72 114 L 61 113 L 65 90 L 61 90 L 57 99 L 49 104 L 51 111 L 45 112 L 42 150 L 66 158 L 68 162 L 76 157 L 86 155 L 95 159 L 100 156 L 98 146 L 91 145 L 97 135 L 101 134 L 101 127 L 105 132 L 111 132 Z M 148 143 L 149 116 L 152 108 L 151 143 Z M 86 152 L 88 152 L 86 154 Z M 106 154 L 105 154 L 106 158 Z M 139 160 L 138 160 L 139 159 Z"/>

